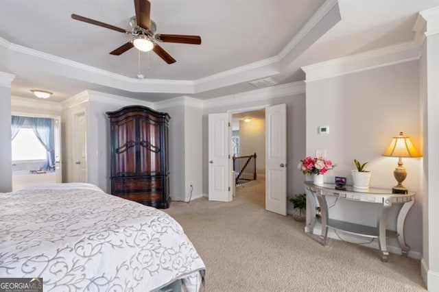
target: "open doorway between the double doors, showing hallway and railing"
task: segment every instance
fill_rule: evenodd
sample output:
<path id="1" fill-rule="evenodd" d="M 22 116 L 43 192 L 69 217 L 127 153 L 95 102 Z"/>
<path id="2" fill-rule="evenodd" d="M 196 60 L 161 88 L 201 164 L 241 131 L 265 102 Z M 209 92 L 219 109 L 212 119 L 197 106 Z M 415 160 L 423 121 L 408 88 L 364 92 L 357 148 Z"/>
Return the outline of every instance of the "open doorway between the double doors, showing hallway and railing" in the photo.
<path id="1" fill-rule="evenodd" d="M 265 208 L 265 108 L 232 114 L 233 195 Z"/>

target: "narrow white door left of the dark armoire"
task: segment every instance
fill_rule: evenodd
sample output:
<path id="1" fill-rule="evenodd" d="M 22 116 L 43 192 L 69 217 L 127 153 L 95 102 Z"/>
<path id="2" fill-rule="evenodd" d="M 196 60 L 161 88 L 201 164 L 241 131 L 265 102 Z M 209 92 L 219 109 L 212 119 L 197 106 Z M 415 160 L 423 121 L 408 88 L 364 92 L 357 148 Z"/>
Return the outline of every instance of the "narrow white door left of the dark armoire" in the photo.
<path id="1" fill-rule="evenodd" d="M 87 138 L 86 138 L 86 114 L 79 112 L 74 114 L 73 127 L 73 180 L 75 182 L 87 182 Z"/>

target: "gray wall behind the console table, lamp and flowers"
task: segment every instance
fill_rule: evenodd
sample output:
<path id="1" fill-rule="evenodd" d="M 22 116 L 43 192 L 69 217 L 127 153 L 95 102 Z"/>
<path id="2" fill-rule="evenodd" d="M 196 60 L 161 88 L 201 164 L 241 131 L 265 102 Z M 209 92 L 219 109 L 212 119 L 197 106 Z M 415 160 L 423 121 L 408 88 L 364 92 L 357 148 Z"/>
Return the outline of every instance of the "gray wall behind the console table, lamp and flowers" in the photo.
<path id="1" fill-rule="evenodd" d="M 318 126 L 322 125 L 329 125 L 328 135 L 318 134 Z M 352 184 L 351 170 L 356 158 L 369 162 L 371 186 L 392 188 L 396 184 L 393 171 L 398 158 L 381 156 L 391 138 L 405 132 L 422 150 L 418 62 L 307 82 L 306 129 L 307 155 L 326 149 L 327 158 L 337 164 L 325 175 L 326 182 L 333 182 L 337 175 Z M 403 158 L 408 173 L 404 185 L 417 193 L 405 222 L 405 239 L 416 252 L 422 250 L 421 161 L 422 158 Z M 342 201 L 331 208 L 331 217 L 375 226 L 377 212 L 372 204 Z M 388 228 L 395 230 L 396 212 L 391 212 L 389 219 Z M 399 246 L 395 240 L 389 245 Z"/>

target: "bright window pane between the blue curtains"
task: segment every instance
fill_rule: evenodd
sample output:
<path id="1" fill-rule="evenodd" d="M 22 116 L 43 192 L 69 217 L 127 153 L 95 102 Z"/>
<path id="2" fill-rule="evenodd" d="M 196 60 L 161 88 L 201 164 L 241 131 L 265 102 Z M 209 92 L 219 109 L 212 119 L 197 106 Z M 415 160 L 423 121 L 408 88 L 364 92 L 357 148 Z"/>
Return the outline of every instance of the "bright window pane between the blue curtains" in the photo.
<path id="1" fill-rule="evenodd" d="M 22 127 L 12 140 L 12 160 L 46 160 L 47 151 L 36 138 L 34 130 Z"/>

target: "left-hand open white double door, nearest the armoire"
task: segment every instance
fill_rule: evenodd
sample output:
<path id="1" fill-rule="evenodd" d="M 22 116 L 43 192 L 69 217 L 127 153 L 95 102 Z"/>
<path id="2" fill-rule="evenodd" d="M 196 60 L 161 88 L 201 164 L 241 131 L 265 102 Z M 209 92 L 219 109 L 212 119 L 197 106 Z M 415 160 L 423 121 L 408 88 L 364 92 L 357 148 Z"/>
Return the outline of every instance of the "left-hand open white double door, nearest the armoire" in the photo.
<path id="1" fill-rule="evenodd" d="M 229 114 L 209 114 L 209 201 L 230 202 Z"/>

